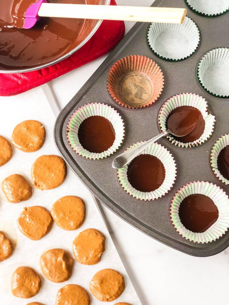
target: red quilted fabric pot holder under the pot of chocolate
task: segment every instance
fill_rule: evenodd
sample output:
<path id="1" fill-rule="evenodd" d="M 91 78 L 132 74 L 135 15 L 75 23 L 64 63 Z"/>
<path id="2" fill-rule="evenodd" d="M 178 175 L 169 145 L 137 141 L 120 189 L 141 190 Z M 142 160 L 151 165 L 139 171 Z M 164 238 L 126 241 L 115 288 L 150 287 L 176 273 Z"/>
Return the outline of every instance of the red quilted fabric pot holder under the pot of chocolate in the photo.
<path id="1" fill-rule="evenodd" d="M 111 5 L 116 5 L 115 0 L 111 0 Z M 0 74 L 0 95 L 17 95 L 85 65 L 110 52 L 122 40 L 124 34 L 123 21 L 104 20 L 82 48 L 59 63 L 32 72 Z"/>

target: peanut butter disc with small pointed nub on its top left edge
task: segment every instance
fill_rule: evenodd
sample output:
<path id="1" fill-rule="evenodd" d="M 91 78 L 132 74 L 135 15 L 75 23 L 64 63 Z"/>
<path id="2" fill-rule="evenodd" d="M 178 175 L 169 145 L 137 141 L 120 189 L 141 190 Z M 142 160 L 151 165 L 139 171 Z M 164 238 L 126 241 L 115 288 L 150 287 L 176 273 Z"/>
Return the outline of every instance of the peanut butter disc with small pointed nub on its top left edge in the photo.
<path id="1" fill-rule="evenodd" d="M 48 234 L 52 224 L 51 214 L 42 206 L 25 207 L 17 220 L 20 231 L 32 240 L 41 239 Z"/>

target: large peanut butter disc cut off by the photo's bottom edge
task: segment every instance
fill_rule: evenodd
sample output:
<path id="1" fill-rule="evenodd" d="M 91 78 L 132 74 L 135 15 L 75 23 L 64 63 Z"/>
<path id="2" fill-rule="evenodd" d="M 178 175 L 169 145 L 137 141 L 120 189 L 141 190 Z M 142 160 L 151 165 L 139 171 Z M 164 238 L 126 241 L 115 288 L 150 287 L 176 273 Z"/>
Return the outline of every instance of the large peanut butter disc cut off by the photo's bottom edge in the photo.
<path id="1" fill-rule="evenodd" d="M 56 305 L 90 305 L 90 296 L 79 285 L 66 285 L 58 290 Z"/>

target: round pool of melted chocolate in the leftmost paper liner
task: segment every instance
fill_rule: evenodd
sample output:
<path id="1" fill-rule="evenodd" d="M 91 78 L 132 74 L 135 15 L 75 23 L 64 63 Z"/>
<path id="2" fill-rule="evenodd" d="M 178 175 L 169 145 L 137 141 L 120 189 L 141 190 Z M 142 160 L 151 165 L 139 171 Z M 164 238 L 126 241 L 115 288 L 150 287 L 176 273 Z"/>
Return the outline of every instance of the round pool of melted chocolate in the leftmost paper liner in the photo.
<path id="1" fill-rule="evenodd" d="M 115 141 L 115 130 L 105 117 L 88 117 L 79 125 L 78 138 L 80 144 L 89 152 L 104 152 Z"/>

